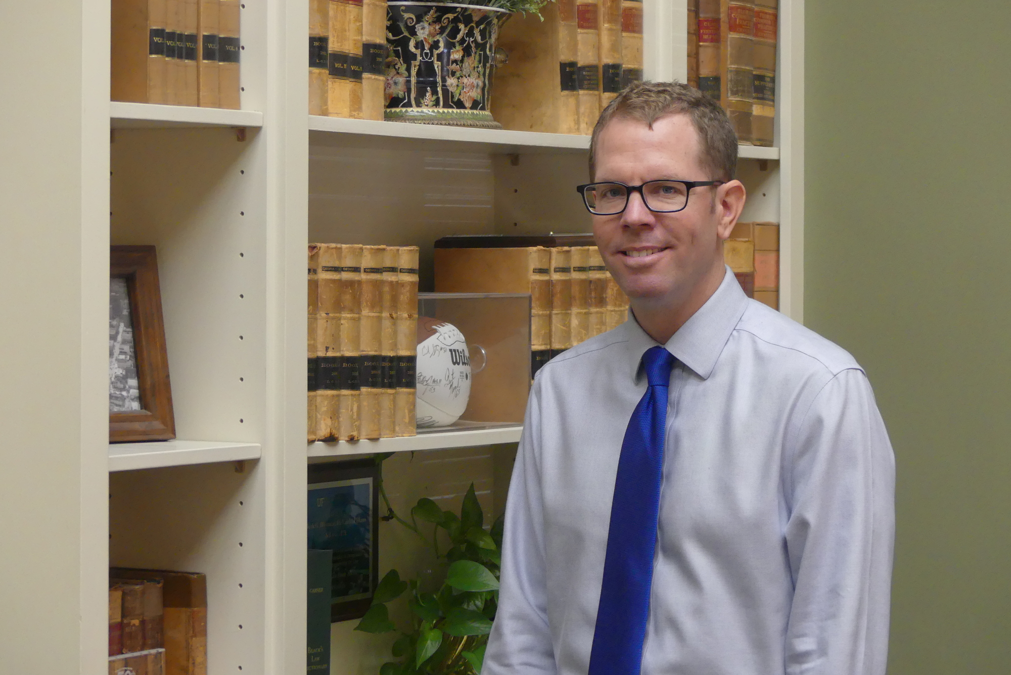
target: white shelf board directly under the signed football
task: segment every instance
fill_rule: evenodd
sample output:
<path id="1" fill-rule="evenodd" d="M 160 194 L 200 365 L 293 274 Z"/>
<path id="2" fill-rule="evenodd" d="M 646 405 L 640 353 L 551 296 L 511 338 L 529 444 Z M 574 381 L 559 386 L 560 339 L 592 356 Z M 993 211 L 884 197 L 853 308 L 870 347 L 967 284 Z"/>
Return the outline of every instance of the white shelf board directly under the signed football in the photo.
<path id="1" fill-rule="evenodd" d="M 379 439 L 378 441 L 310 443 L 308 444 L 308 456 L 309 458 L 337 458 L 349 455 L 494 446 L 502 443 L 517 443 L 520 441 L 520 435 L 523 432 L 523 424 L 500 424 L 493 426 L 482 424 L 481 426 L 482 428 L 423 430 L 419 431 L 418 436 L 399 439 Z"/>

